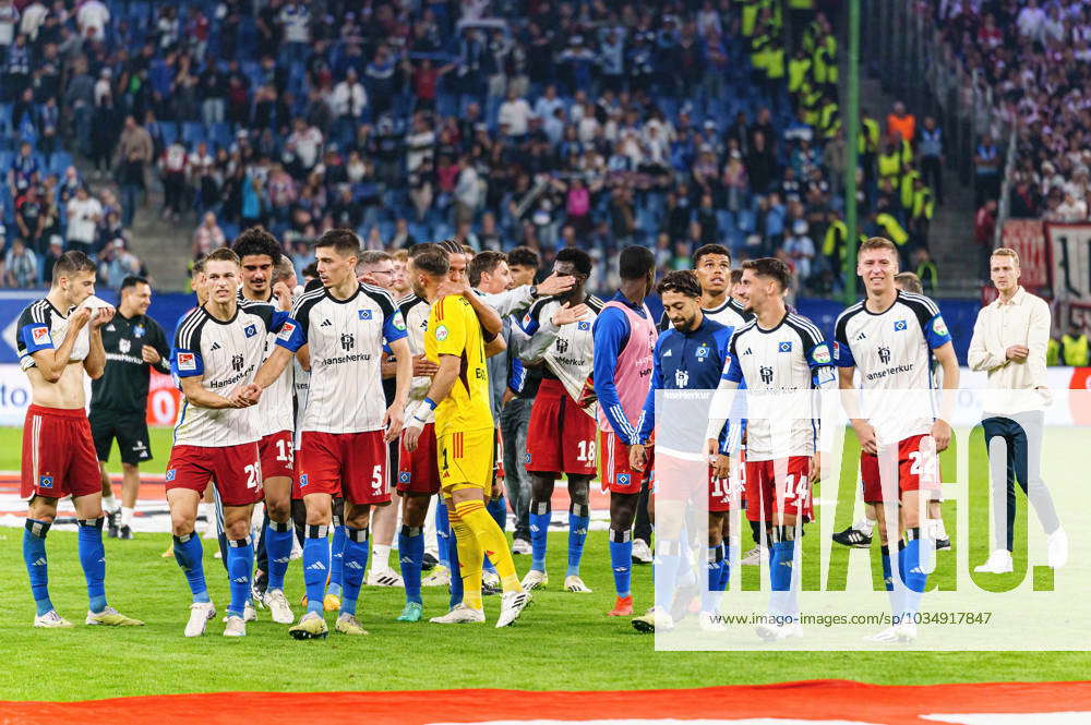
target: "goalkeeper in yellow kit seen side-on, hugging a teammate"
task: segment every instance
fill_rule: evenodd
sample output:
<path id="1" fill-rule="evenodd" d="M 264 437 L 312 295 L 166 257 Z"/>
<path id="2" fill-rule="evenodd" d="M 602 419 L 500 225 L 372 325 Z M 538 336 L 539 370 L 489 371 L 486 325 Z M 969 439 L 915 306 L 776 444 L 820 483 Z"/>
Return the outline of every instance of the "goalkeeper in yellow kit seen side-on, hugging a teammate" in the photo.
<path id="1" fill-rule="evenodd" d="M 455 533 L 463 580 L 461 603 L 431 621 L 484 621 L 481 566 L 488 554 L 504 588 L 496 627 L 506 627 L 529 604 L 530 594 L 519 583 L 504 532 L 484 507 L 485 492 L 492 487 L 495 450 L 485 342 L 477 314 L 465 297 L 436 299 L 448 267 L 443 249 L 427 250 L 413 256 L 410 280 L 413 291 L 432 305 L 424 355 L 440 370 L 423 404 L 406 425 L 404 443 L 408 450 L 416 449 L 423 418 L 429 409 L 434 410 L 440 488 Z"/>

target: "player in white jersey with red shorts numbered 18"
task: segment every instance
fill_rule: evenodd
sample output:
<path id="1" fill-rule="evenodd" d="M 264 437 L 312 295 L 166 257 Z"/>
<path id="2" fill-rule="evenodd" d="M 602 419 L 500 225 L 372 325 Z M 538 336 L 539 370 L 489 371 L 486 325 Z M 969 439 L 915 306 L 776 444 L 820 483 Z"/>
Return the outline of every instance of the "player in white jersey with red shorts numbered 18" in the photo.
<path id="1" fill-rule="evenodd" d="M 543 589 L 546 545 L 553 518 L 550 502 L 558 476 L 568 478 L 568 566 L 564 589 L 590 593 L 579 577 L 579 560 L 590 525 L 588 493 L 597 473 L 595 456 L 596 410 L 580 408 L 584 382 L 591 373 L 595 342 L 591 325 L 603 302 L 584 289 L 591 275 L 591 257 L 583 250 L 565 247 L 554 263 L 558 275 L 573 277 L 568 292 L 539 300 L 519 326 L 530 336 L 523 346 L 524 363 L 542 366 L 542 382 L 530 411 L 526 467 L 530 474 L 530 570 L 524 589 Z"/>

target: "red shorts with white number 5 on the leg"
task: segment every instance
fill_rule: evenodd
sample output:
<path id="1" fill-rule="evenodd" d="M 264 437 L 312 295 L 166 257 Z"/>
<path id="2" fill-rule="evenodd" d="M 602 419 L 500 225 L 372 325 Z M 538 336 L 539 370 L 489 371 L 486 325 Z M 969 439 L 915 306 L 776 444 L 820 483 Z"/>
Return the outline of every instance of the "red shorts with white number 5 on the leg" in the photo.
<path id="1" fill-rule="evenodd" d="M 304 431 L 299 444 L 299 488 L 344 496 L 353 504 L 389 504 L 389 448 L 382 431 Z"/>

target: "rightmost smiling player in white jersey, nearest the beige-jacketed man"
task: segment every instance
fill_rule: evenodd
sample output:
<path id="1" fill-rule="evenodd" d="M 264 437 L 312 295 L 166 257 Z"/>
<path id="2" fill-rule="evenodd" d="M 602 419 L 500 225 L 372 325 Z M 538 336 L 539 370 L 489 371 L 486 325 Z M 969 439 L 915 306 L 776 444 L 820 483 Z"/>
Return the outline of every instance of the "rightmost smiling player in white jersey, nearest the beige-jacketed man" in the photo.
<path id="1" fill-rule="evenodd" d="M 938 454 L 950 443 L 947 421 L 952 391 L 958 388 L 958 361 L 936 303 L 895 286 L 898 250 L 894 242 L 873 237 L 861 244 L 856 274 L 863 277 L 866 297 L 838 316 L 834 361 L 846 391 L 841 400 L 860 440 L 864 500 L 875 504 L 883 573 L 896 623 L 872 639 L 912 641 L 921 593 L 927 584 L 921 558 L 934 552 L 931 535 L 921 541 L 921 519 L 924 503 L 939 487 Z M 933 358 L 944 371 L 938 416 L 932 396 Z M 856 389 L 854 373 L 859 373 L 862 394 L 849 392 Z M 888 546 L 894 532 L 899 543 L 897 578 Z"/>

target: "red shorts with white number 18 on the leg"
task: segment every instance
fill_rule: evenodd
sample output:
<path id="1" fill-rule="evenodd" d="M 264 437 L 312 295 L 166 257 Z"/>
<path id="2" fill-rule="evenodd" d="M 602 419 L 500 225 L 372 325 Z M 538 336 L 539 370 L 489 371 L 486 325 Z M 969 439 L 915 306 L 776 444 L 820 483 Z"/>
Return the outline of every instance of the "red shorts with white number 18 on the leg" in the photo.
<path id="1" fill-rule="evenodd" d="M 595 430 L 560 380 L 542 380 L 527 427 L 527 472 L 595 475 Z"/>

